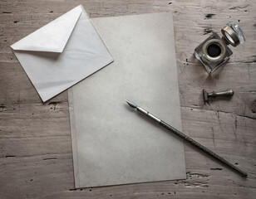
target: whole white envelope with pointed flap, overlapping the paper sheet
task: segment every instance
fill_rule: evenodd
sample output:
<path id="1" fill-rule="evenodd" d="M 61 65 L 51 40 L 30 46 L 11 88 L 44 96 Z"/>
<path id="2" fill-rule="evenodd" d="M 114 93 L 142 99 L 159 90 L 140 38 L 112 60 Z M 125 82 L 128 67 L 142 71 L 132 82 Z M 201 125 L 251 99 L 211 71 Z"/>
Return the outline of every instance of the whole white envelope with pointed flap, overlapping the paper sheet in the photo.
<path id="1" fill-rule="evenodd" d="M 11 47 L 42 101 L 113 61 L 81 5 Z"/>

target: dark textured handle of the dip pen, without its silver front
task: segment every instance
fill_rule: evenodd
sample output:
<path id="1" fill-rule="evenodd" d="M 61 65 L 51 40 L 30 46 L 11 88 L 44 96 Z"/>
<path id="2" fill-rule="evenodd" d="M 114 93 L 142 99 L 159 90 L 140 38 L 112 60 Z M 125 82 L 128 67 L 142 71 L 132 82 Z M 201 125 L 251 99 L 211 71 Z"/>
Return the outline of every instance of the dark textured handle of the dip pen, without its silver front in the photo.
<path id="1" fill-rule="evenodd" d="M 225 165 L 231 167 L 234 169 L 234 171 L 239 172 L 240 175 L 243 177 L 247 177 L 247 173 L 239 169 L 239 167 L 234 166 L 234 164 L 229 163 L 227 160 L 224 158 L 220 157 L 218 154 L 214 153 L 213 151 L 209 150 L 209 148 L 205 148 L 202 144 L 196 142 L 194 139 L 190 138 L 189 136 L 185 135 L 185 133 L 181 133 L 179 130 L 173 128 L 169 124 L 165 123 L 164 121 L 160 121 L 160 125 L 165 127 L 165 129 L 169 129 L 172 133 L 175 133 L 176 135 L 180 136 L 180 138 L 185 139 L 187 142 L 191 143 L 194 145 L 196 148 L 201 149 L 204 151 L 204 153 L 209 154 L 211 157 L 218 159 L 221 163 L 224 163 Z"/>

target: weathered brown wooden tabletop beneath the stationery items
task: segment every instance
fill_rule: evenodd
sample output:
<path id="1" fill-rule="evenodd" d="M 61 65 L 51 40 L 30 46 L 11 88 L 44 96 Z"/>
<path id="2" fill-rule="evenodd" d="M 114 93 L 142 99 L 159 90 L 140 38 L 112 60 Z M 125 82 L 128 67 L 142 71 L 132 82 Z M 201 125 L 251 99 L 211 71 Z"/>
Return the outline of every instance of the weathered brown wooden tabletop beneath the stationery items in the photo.
<path id="1" fill-rule="evenodd" d="M 67 93 L 43 104 L 9 46 L 79 4 L 90 17 L 173 12 L 184 132 L 249 172 L 247 179 L 185 143 L 185 180 L 74 189 Z M 0 198 L 255 198 L 255 19 L 253 0 L 1 0 Z M 229 21 L 239 22 L 247 41 L 209 77 L 194 47 Z M 204 104 L 203 88 L 235 95 Z"/>

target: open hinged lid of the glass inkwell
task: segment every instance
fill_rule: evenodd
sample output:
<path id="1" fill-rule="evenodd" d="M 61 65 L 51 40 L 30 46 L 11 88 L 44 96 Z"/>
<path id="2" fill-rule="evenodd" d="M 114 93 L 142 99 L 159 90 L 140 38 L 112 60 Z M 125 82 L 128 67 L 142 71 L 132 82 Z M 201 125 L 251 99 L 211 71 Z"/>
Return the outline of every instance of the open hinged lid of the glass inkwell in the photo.
<path id="1" fill-rule="evenodd" d="M 227 23 L 227 25 L 221 29 L 221 32 L 224 36 L 224 41 L 232 46 L 238 46 L 245 41 L 243 31 L 235 22 Z"/>

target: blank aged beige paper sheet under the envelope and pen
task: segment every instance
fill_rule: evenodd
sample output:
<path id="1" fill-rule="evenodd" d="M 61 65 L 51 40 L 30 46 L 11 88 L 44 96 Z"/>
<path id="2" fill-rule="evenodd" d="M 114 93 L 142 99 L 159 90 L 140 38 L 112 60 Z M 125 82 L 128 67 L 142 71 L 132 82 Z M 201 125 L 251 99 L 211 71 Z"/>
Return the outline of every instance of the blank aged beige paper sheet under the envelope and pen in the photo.
<path id="1" fill-rule="evenodd" d="M 115 61 L 69 90 L 76 187 L 185 178 L 172 14 L 92 19 Z"/>

